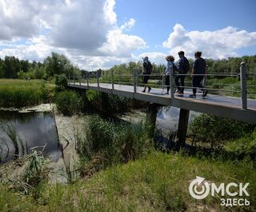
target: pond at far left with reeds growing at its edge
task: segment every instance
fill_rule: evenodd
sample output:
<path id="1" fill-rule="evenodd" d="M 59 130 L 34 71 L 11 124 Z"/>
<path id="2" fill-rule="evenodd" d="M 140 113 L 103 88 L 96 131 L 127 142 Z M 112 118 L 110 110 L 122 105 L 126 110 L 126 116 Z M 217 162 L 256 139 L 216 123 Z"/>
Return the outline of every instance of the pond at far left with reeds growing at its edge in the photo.
<path id="1" fill-rule="evenodd" d="M 43 155 L 52 162 L 62 155 L 51 112 L 0 110 L 0 163 L 13 159 L 15 154 L 30 154 L 42 149 Z"/>

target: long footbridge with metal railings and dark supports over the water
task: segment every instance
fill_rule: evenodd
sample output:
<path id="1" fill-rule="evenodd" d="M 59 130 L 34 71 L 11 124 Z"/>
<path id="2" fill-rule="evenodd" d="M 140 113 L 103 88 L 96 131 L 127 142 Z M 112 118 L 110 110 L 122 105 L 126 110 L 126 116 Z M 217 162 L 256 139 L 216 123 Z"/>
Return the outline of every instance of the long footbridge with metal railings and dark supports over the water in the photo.
<path id="1" fill-rule="evenodd" d="M 182 74 L 180 74 L 182 75 Z M 191 78 L 191 74 L 186 75 L 187 79 Z M 145 102 L 149 102 L 146 120 L 150 122 L 151 130 L 154 132 L 156 116 L 159 106 L 174 106 L 180 108 L 178 122 L 178 145 L 182 146 L 186 142 L 186 131 L 190 110 L 198 111 L 204 114 L 216 115 L 223 118 L 231 118 L 234 120 L 249 122 L 256 124 L 256 99 L 247 98 L 248 95 L 256 96 L 254 90 L 256 85 L 248 84 L 248 78 L 255 78 L 255 74 L 247 73 L 246 64 L 240 65 L 240 72 L 233 74 L 204 74 L 203 86 L 209 91 L 206 97 L 202 93 L 198 93 L 196 98 L 190 98 L 192 94 L 191 82 L 186 82 L 184 94 L 174 93 L 176 87 L 174 83 L 174 74 L 164 75 L 162 73 L 150 74 L 150 83 L 152 89 L 149 93 L 142 92 L 144 84 L 142 77 L 145 74 L 138 74 L 138 70 L 134 69 L 132 74 L 114 73 L 114 70 L 105 72 L 96 72 L 96 74 L 86 73 L 79 76 L 70 76 L 68 87 L 78 90 L 98 90 L 107 94 L 116 94 L 126 98 L 135 98 Z M 170 78 L 170 94 L 166 93 L 166 85 L 164 78 Z M 215 83 L 214 87 L 207 87 L 209 78 L 236 78 L 239 83 L 226 85 L 231 89 L 222 89 Z M 210 81 L 210 80 L 209 80 Z M 254 82 L 254 81 L 252 81 Z M 217 85 L 216 85 L 217 84 Z M 231 97 L 226 94 L 233 94 Z M 152 134 L 151 136 L 153 136 Z"/>

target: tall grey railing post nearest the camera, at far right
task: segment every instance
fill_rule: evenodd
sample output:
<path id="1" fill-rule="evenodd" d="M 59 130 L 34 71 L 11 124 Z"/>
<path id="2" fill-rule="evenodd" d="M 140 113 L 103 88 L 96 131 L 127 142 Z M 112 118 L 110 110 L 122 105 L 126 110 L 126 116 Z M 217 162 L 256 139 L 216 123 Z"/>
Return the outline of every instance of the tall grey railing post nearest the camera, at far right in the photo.
<path id="1" fill-rule="evenodd" d="M 246 63 L 240 64 L 240 82 L 241 82 L 241 104 L 242 109 L 247 109 L 247 85 L 246 85 Z"/>

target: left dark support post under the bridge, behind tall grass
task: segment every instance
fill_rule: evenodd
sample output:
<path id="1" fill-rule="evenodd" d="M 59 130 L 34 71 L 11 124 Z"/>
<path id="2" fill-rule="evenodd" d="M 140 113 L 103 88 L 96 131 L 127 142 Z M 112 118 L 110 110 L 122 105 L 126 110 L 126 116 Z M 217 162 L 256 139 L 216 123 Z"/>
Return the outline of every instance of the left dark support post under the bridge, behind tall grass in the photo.
<path id="1" fill-rule="evenodd" d="M 154 128 L 157 120 L 158 106 L 158 104 L 150 102 L 146 110 L 146 126 L 148 130 L 148 136 L 150 138 L 154 138 Z"/>

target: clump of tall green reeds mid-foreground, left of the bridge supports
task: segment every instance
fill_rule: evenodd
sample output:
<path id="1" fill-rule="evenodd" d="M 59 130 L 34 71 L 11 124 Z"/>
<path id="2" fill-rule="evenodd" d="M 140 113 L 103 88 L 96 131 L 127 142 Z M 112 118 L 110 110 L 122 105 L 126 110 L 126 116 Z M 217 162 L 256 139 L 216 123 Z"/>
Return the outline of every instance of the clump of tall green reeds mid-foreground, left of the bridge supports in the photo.
<path id="1" fill-rule="evenodd" d="M 77 144 L 78 153 L 86 160 L 86 168 L 81 167 L 82 175 L 90 174 L 91 169 L 142 158 L 153 149 L 143 123 L 114 123 L 90 116 L 83 133 L 85 136 Z"/>

